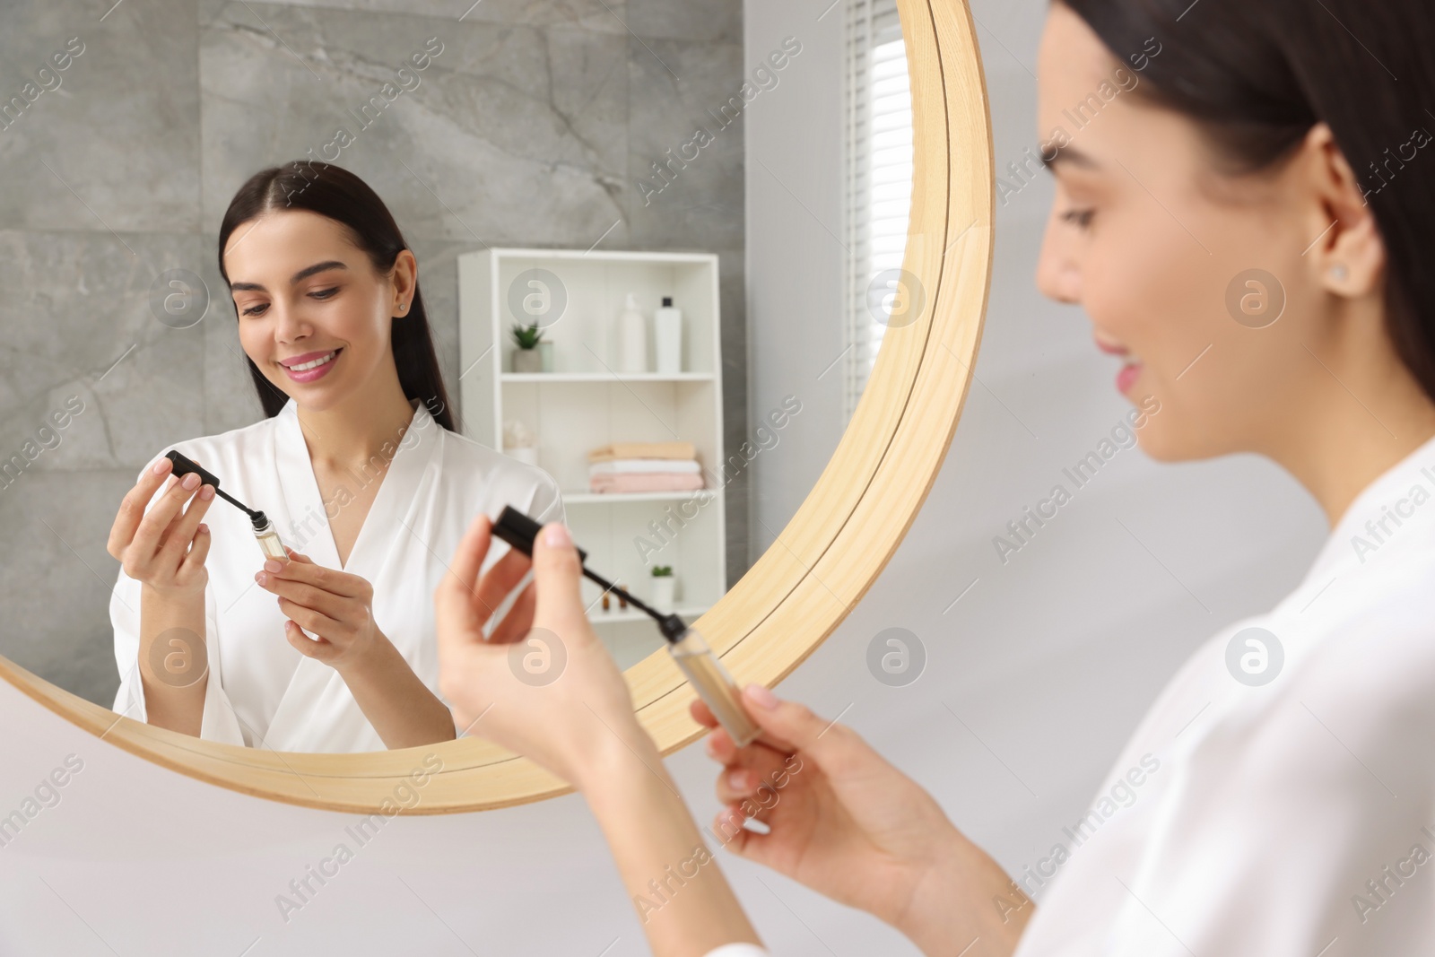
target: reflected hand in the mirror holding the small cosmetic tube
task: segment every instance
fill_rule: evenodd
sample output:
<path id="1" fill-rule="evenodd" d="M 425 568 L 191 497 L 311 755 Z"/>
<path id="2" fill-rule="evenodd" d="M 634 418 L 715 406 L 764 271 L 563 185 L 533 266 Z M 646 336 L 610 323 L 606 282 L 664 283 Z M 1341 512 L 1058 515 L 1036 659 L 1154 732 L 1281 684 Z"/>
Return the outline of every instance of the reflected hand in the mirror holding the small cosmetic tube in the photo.
<path id="1" fill-rule="evenodd" d="M 366 580 L 286 551 L 288 561 L 270 558 L 254 581 L 278 595 L 288 618 L 284 637 L 300 654 L 346 671 L 392 647 L 373 620 L 373 587 Z"/>

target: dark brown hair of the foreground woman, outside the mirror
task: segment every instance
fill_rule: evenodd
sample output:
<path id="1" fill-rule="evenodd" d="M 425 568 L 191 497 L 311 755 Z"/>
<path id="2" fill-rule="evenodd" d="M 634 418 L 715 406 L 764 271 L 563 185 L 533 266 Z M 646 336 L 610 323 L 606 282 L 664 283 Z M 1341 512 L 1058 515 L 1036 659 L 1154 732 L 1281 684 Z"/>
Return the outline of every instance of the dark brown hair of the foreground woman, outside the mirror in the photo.
<path id="1" fill-rule="evenodd" d="M 1431 0 L 1058 0 L 1137 88 L 1195 121 L 1224 172 L 1277 166 L 1317 122 L 1355 171 L 1386 250 L 1386 327 L 1435 399 L 1435 4 Z M 1424 141 L 1419 141 L 1424 136 Z M 1405 148 L 1418 152 L 1403 155 Z M 1424 165 L 1424 166 L 1422 166 Z M 1409 166 L 1409 169 L 1406 169 Z"/>

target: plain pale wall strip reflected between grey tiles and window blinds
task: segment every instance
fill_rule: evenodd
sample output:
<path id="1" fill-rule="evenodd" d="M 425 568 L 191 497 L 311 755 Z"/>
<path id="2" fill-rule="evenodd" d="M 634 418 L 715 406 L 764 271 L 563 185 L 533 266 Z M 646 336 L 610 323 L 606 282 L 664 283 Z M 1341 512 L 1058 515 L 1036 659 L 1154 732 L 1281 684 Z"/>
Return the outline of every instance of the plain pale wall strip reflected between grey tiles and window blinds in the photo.
<path id="1" fill-rule="evenodd" d="M 802 412 L 752 463 L 753 560 L 798 511 L 842 438 L 842 3 L 743 4 L 748 73 L 786 37 L 802 52 L 745 113 L 748 420 L 784 396 Z M 824 10 L 827 10 L 824 16 Z M 821 20 L 818 19 L 821 16 Z M 835 364 L 834 364 L 835 362 Z"/>

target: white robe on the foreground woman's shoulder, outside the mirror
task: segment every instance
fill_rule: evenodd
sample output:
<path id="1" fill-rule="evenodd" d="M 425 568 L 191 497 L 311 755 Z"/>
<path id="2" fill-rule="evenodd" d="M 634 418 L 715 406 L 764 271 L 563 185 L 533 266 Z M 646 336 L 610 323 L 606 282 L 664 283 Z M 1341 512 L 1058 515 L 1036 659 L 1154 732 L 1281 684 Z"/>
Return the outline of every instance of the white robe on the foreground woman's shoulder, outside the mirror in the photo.
<path id="1" fill-rule="evenodd" d="M 1248 627 L 1284 650 L 1264 686 L 1227 669 Z M 1177 671 L 1089 808 L 1012 875 L 1039 901 L 1016 957 L 1435 954 L 1435 439 Z"/>

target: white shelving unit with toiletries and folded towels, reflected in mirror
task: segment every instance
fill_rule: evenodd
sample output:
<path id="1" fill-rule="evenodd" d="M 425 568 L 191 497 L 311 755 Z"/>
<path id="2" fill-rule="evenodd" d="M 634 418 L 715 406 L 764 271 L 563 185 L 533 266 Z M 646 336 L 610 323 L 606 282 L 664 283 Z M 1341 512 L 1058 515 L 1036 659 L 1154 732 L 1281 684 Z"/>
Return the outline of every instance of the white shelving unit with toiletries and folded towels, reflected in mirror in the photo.
<path id="1" fill-rule="evenodd" d="M 676 611 L 689 621 L 706 611 L 726 591 L 718 257 L 489 248 L 459 255 L 458 275 L 459 405 L 468 435 L 502 449 L 504 423 L 527 425 L 538 438 L 538 466 L 563 489 L 568 527 L 590 565 L 644 600 L 651 567 L 672 565 Z M 530 293 L 537 314 L 525 310 Z M 614 320 L 629 293 L 649 317 L 650 367 L 653 311 L 664 296 L 683 311 L 683 372 L 616 372 Z M 565 304 L 554 319 L 558 301 Z M 509 372 L 517 349 L 509 330 L 535 319 L 554 343 L 554 370 Z M 588 489 L 590 449 L 673 440 L 697 448 L 709 491 Z M 657 551 L 644 554 L 639 539 Z M 617 611 L 616 601 L 604 613 L 598 587 L 583 584 L 590 618 L 621 667 L 662 644 L 646 616 Z"/>

